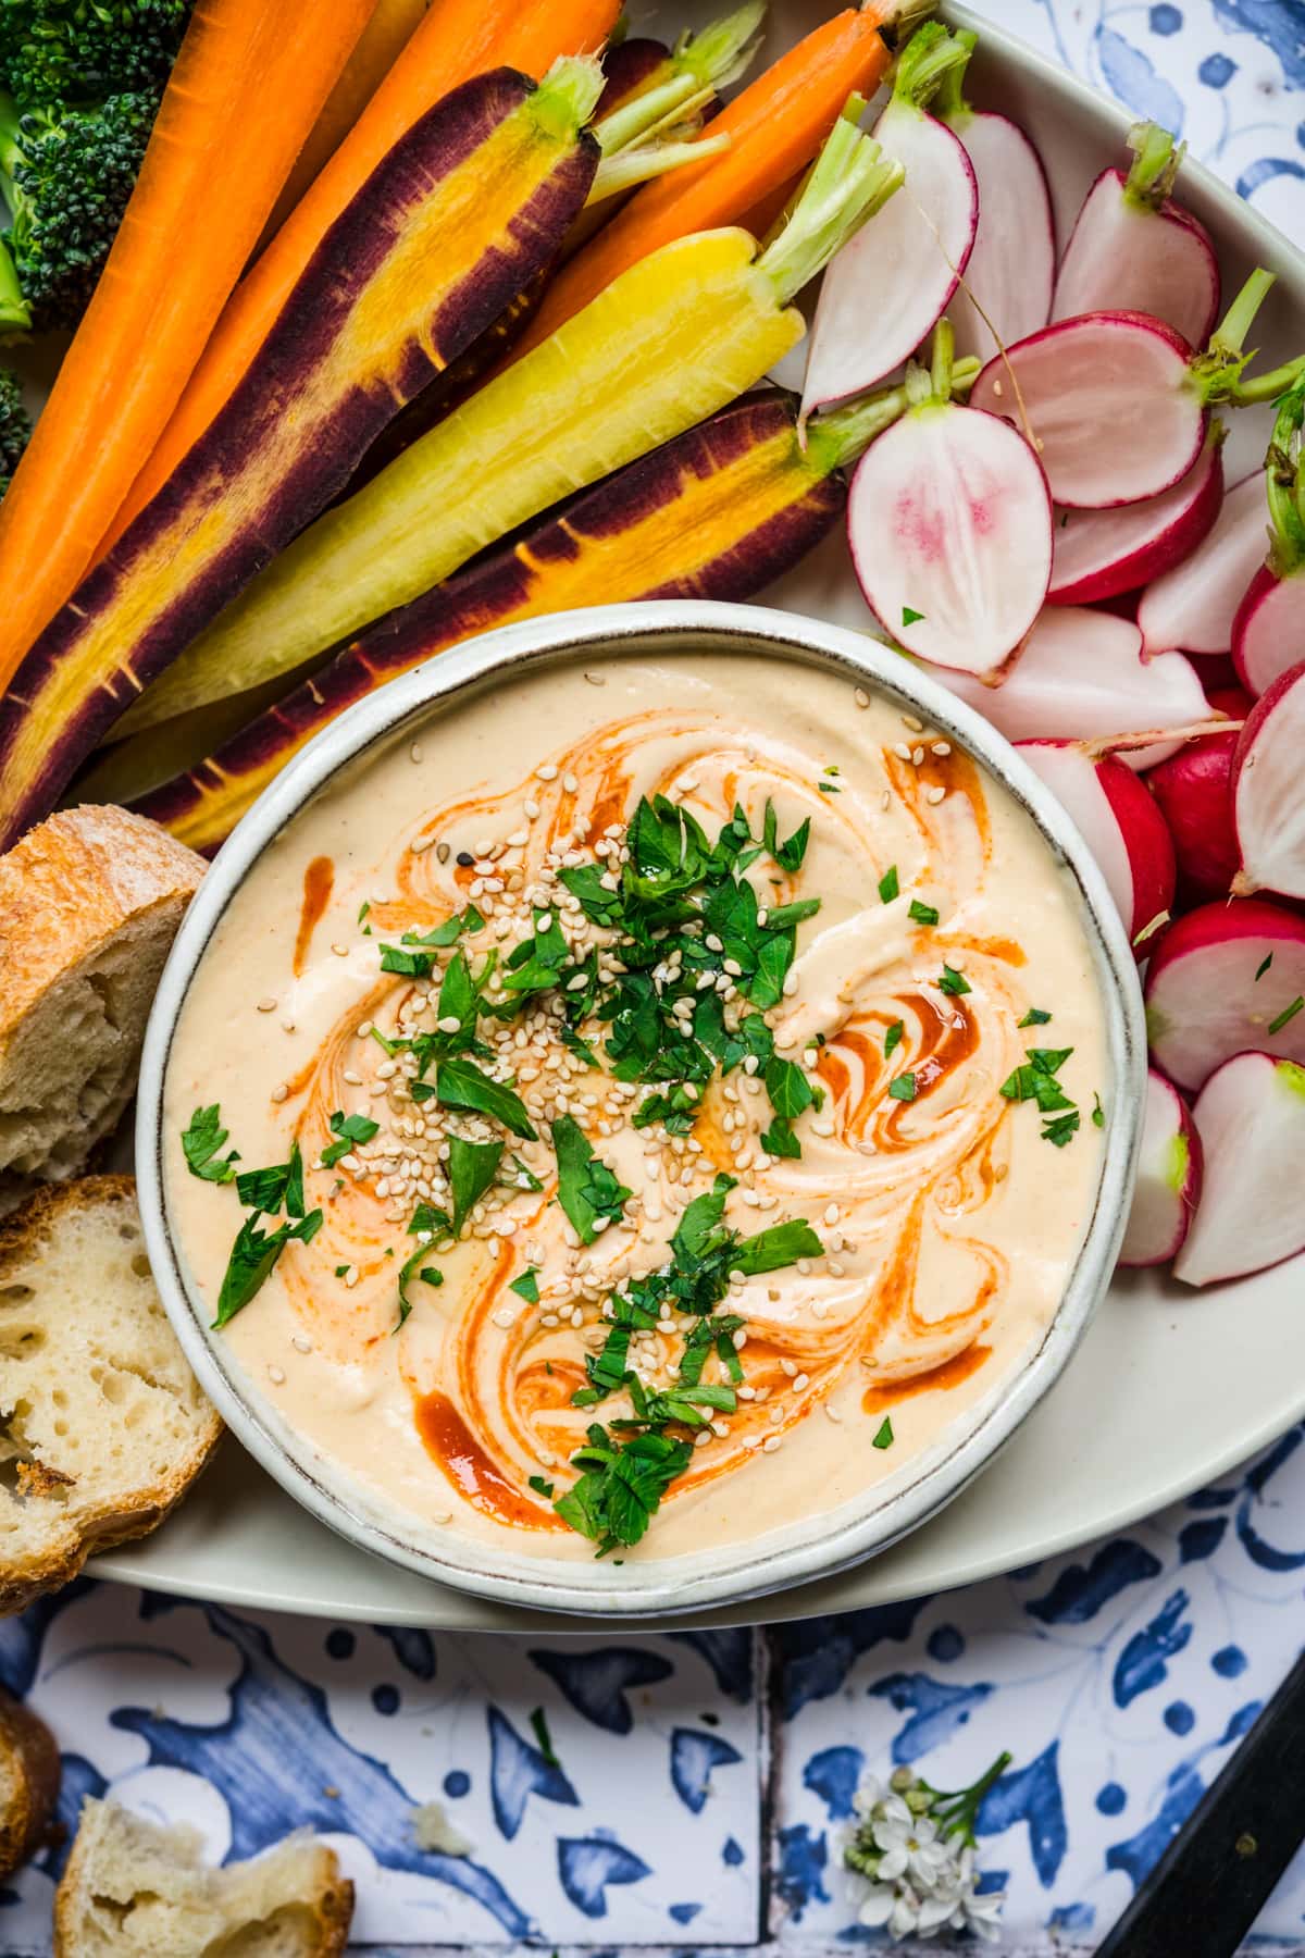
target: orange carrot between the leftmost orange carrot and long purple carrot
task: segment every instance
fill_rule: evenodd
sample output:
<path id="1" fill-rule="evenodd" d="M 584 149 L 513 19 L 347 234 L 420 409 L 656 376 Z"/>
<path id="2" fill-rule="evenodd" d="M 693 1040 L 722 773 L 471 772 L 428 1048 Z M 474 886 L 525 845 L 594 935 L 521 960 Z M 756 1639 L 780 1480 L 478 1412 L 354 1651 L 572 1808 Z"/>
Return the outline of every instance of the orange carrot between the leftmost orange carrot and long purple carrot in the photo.
<path id="1" fill-rule="evenodd" d="M 432 0 L 344 143 L 233 292 L 172 421 L 108 525 L 98 556 L 145 509 L 225 407 L 323 233 L 399 137 L 472 74 L 509 67 L 538 80 L 558 55 L 595 53 L 618 14 L 620 0 L 532 0 L 528 6 L 520 0 Z"/>

